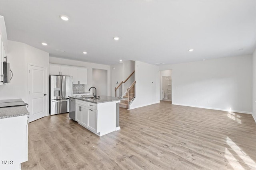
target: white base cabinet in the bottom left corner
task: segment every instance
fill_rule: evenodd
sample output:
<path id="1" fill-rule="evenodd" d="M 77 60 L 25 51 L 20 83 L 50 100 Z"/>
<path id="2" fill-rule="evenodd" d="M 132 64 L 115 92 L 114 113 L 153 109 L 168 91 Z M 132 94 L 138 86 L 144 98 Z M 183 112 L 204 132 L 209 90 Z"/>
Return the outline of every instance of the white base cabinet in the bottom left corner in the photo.
<path id="1" fill-rule="evenodd" d="M 1 170 L 18 170 L 28 160 L 28 115 L 0 119 Z"/>

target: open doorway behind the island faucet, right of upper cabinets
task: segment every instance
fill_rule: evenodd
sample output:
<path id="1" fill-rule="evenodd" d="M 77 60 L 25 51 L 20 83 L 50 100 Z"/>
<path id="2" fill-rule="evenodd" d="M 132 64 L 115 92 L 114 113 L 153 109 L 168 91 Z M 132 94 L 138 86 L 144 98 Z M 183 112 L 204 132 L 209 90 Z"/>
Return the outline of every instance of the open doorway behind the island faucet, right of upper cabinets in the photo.
<path id="1" fill-rule="evenodd" d="M 107 70 L 92 69 L 92 86 L 97 89 L 97 96 L 107 96 Z"/>

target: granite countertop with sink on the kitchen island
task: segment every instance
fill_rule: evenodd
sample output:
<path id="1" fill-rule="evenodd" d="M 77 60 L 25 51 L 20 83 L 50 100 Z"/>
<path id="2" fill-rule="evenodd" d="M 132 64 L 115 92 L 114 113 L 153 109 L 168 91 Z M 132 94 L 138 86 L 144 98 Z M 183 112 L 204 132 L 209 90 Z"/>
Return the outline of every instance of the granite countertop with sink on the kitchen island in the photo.
<path id="1" fill-rule="evenodd" d="M 112 96 L 100 96 L 100 98 L 98 99 L 84 99 L 84 98 L 76 98 L 76 97 L 71 97 L 70 98 L 73 99 L 78 99 L 78 100 L 83 100 L 86 102 L 91 102 L 91 103 L 104 103 L 104 102 L 114 102 L 114 101 L 119 101 L 119 100 L 127 100 L 126 98 L 116 98 L 116 97 L 112 97 Z M 93 95 L 87 95 L 86 97 L 93 97 Z"/>

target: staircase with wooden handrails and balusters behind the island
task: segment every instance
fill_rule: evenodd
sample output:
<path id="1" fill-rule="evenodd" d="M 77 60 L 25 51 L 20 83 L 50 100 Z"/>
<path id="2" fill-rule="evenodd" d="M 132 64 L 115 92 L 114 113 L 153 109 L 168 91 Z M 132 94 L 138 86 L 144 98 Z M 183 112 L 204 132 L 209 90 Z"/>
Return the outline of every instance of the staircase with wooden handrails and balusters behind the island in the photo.
<path id="1" fill-rule="evenodd" d="M 134 74 L 134 72 L 132 72 L 132 74 Z M 126 80 L 122 81 L 116 88 L 115 88 L 115 97 L 118 98 L 124 98 L 126 100 L 121 100 L 120 102 L 120 107 L 126 108 L 126 109 L 130 109 L 130 105 L 132 104 L 132 102 L 134 101 L 134 99 L 136 98 L 136 81 L 134 81 L 132 83 L 132 85 L 127 88 L 127 91 L 125 93 L 124 96 L 123 95 L 123 90 L 122 90 L 122 85 L 132 76 L 132 74 L 130 74 L 130 76 L 128 76 L 128 78 L 126 78 Z"/>

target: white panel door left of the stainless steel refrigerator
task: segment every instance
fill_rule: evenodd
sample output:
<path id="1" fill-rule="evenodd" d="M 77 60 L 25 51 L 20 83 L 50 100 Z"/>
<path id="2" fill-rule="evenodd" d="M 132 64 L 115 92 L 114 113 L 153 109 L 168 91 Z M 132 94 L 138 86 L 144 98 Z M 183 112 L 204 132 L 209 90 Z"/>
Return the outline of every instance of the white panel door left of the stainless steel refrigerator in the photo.
<path id="1" fill-rule="evenodd" d="M 28 122 L 40 119 L 46 115 L 46 68 L 28 66 Z"/>

